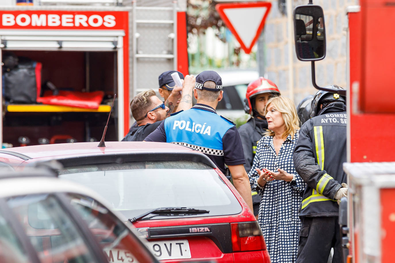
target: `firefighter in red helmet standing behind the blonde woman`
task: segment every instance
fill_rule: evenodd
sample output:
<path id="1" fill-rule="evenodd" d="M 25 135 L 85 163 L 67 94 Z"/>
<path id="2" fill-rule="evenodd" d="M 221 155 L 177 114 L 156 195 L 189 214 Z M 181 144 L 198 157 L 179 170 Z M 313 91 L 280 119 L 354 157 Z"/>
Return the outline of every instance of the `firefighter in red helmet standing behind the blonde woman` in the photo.
<path id="1" fill-rule="evenodd" d="M 251 170 L 252 161 L 256 153 L 256 144 L 267 129 L 265 107 L 267 101 L 273 96 L 280 96 L 280 91 L 276 84 L 267 78 L 260 77 L 248 84 L 246 98 L 244 99 L 244 110 L 251 117 L 247 123 L 241 125 L 239 128 L 246 161 L 244 168 L 247 173 Z M 254 215 L 258 216 L 260 196 L 256 192 L 252 193 L 252 203 L 254 206 Z"/>

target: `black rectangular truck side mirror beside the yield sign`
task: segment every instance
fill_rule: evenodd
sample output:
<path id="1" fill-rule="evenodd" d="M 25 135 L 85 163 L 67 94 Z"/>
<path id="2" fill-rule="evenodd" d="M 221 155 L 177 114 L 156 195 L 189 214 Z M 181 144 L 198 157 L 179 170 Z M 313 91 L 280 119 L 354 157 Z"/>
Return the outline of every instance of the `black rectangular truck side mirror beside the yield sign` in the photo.
<path id="1" fill-rule="evenodd" d="M 320 6 L 297 6 L 293 10 L 296 56 L 302 61 L 325 58 L 324 11 Z"/>

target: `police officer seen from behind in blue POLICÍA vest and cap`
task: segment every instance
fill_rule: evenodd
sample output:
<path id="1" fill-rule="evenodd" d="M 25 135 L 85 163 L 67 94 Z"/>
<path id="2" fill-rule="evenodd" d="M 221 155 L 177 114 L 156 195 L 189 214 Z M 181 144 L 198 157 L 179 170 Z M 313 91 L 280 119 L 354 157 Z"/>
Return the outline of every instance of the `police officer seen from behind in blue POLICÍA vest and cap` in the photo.
<path id="1" fill-rule="evenodd" d="M 171 142 L 196 149 L 205 153 L 223 173 L 226 173 L 225 164 L 228 165 L 233 185 L 252 209 L 239 132 L 232 121 L 215 111 L 222 94 L 222 80 L 218 73 L 203 71 L 196 76 L 194 97 L 197 104 L 167 118 L 145 141 Z"/>

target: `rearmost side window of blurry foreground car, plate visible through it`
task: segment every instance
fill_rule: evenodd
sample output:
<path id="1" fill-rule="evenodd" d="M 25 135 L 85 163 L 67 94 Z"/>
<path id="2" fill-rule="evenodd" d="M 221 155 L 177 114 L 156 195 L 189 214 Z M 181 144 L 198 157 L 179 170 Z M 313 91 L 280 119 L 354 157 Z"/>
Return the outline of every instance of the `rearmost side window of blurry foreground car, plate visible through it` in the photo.
<path id="1" fill-rule="evenodd" d="M 96 200 L 80 194 L 67 196 L 96 236 L 108 262 L 138 263 L 151 259 L 138 237 Z"/>

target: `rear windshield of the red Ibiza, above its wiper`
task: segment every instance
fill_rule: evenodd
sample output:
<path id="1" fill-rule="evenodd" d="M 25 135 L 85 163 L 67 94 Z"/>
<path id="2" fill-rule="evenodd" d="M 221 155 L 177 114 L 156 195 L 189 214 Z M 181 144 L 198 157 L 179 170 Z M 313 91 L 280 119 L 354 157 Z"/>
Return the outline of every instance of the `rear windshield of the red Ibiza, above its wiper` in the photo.
<path id="1" fill-rule="evenodd" d="M 125 162 L 67 167 L 59 177 L 92 188 L 110 208 L 133 218 L 152 209 L 187 207 L 196 215 L 155 215 L 152 219 L 235 215 L 241 205 L 215 170 L 192 161 Z M 149 215 L 152 216 L 152 215 Z"/>

